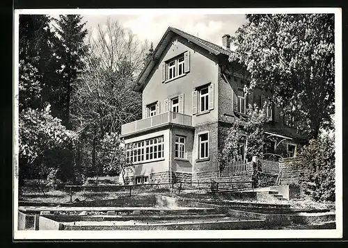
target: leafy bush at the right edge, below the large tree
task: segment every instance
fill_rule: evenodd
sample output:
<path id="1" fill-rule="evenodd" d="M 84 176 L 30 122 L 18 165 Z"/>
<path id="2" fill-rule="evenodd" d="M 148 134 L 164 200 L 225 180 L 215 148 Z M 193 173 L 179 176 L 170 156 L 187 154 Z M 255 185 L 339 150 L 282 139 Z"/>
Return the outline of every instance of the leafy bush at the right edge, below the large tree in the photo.
<path id="1" fill-rule="evenodd" d="M 307 174 L 301 174 L 303 192 L 315 201 L 335 201 L 335 138 L 325 135 L 310 140 L 300 156 Z"/>

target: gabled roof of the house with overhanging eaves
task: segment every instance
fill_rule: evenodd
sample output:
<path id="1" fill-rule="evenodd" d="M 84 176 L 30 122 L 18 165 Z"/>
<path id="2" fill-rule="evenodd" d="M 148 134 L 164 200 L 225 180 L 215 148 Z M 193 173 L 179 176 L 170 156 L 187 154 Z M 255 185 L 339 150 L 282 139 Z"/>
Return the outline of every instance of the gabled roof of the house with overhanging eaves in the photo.
<path id="1" fill-rule="evenodd" d="M 146 63 L 138 78 L 136 78 L 136 84 L 134 85 L 133 90 L 138 92 L 143 91 L 143 88 L 145 88 L 146 83 L 148 83 L 148 76 L 152 72 L 152 69 L 157 65 L 159 58 L 161 57 L 161 54 L 166 49 L 168 43 L 171 42 L 171 38 L 173 38 L 173 36 L 175 35 L 180 35 L 183 38 L 186 38 L 187 40 L 189 40 L 189 42 L 193 42 L 194 44 L 202 47 L 203 49 L 209 51 L 209 53 L 213 53 L 216 56 L 230 56 L 232 54 L 232 51 L 224 49 L 223 47 L 217 44 L 200 39 L 196 36 L 190 35 L 189 33 L 185 33 L 184 31 L 170 26 L 168 27 L 166 33 L 164 33 L 163 37 L 159 41 L 159 44 L 155 48 L 152 54 L 152 58 L 148 61 L 148 63 Z"/>

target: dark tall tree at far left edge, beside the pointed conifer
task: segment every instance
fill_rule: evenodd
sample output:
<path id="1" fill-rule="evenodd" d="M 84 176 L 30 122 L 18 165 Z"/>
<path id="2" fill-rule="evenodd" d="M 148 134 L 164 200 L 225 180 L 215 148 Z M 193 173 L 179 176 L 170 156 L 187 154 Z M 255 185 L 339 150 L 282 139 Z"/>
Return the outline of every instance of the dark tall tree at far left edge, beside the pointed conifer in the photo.
<path id="1" fill-rule="evenodd" d="M 58 61 L 46 15 L 19 15 L 19 108 L 41 108 L 52 101 Z"/>

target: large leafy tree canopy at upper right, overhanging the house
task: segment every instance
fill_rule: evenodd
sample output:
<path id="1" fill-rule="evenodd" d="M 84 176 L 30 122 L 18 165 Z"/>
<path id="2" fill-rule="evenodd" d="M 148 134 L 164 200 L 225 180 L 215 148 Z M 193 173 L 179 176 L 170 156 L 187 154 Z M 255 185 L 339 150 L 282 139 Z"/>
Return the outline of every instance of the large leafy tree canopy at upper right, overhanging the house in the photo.
<path id="1" fill-rule="evenodd" d="M 273 92 L 272 101 L 290 114 L 299 131 L 315 138 L 333 126 L 333 15 L 246 15 L 232 39 L 230 60 L 250 73 L 249 89 Z"/>

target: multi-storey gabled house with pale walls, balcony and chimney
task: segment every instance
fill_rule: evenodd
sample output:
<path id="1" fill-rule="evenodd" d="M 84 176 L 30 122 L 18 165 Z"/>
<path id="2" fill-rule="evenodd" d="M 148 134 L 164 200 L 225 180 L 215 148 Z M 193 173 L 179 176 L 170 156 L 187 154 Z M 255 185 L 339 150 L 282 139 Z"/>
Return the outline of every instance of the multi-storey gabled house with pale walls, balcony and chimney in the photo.
<path id="1" fill-rule="evenodd" d="M 175 183 L 219 178 L 219 150 L 228 128 L 246 116 L 248 104 L 263 106 L 270 92 L 243 91 L 245 72 L 223 47 L 169 27 L 136 81 L 143 117 L 122 125 L 127 163 L 121 183 Z M 295 129 L 269 106 L 264 128 L 270 152 L 296 156 Z M 281 144 L 281 146 L 280 146 Z M 243 154 L 244 144 L 241 144 Z"/>

